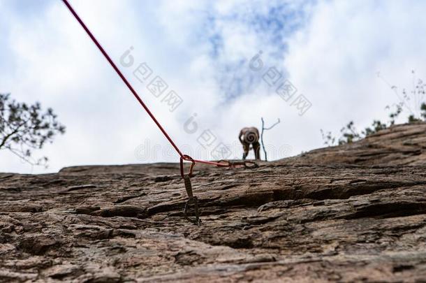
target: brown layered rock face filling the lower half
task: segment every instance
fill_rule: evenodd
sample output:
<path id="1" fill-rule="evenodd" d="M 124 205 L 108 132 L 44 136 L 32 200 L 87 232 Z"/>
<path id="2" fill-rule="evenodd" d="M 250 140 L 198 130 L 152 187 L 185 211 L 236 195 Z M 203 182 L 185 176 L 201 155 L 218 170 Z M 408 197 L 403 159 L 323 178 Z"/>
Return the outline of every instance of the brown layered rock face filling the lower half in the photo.
<path id="1" fill-rule="evenodd" d="M 426 124 L 259 168 L 0 174 L 0 282 L 425 282 Z"/>

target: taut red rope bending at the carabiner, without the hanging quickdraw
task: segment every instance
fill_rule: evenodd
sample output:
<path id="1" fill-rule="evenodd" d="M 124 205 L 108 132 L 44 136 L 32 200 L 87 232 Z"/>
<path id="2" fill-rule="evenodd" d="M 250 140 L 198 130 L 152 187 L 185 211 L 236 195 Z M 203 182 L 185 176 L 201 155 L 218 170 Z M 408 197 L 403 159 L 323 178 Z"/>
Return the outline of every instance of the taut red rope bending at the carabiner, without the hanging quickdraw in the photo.
<path id="1" fill-rule="evenodd" d="M 142 106 L 142 108 L 144 108 L 145 111 L 147 111 L 149 117 L 151 117 L 151 119 L 154 121 L 154 123 L 159 127 L 159 129 L 163 133 L 163 135 L 166 136 L 166 138 L 168 139 L 168 141 L 170 142 L 170 144 L 172 145 L 172 147 L 175 148 L 175 150 L 177 151 L 177 153 L 180 156 L 181 175 L 182 175 L 182 177 L 184 175 L 184 173 L 183 173 L 183 161 L 191 161 L 192 162 L 192 164 L 191 164 L 191 173 L 192 173 L 193 166 L 196 163 L 210 164 L 210 165 L 216 165 L 216 166 L 222 166 L 222 167 L 228 167 L 228 166 L 230 166 L 230 164 L 223 164 L 221 162 L 196 160 L 196 159 L 192 159 L 191 157 L 189 157 L 189 155 L 182 154 L 182 152 L 179 150 L 179 147 L 177 147 L 177 145 L 175 144 L 175 142 L 173 142 L 172 138 L 170 138 L 170 136 L 168 135 L 168 133 L 166 132 L 166 130 L 163 128 L 163 126 L 161 126 L 159 120 L 156 119 L 156 117 L 152 114 L 152 112 L 149 110 L 149 108 L 146 106 L 146 104 L 142 101 L 142 99 L 140 99 L 140 96 L 135 91 L 135 89 L 133 89 L 133 87 L 131 86 L 130 82 L 128 82 L 128 80 L 126 79 L 126 77 L 124 77 L 123 73 L 119 70 L 119 68 L 117 67 L 117 65 L 115 65 L 114 61 L 112 61 L 112 59 L 110 58 L 110 56 L 108 55 L 108 53 L 103 49 L 101 43 L 99 43 L 96 40 L 96 38 L 91 33 L 91 31 L 89 30 L 89 28 L 87 28 L 86 24 L 81 20 L 81 18 L 79 17 L 79 15 L 75 12 L 75 10 L 71 6 L 71 4 L 68 3 L 68 0 L 62 0 L 62 1 L 64 1 L 66 7 L 68 8 L 68 10 L 70 10 L 70 12 L 73 14 L 73 16 L 75 17 L 75 19 L 80 23 L 80 25 L 82 26 L 82 28 L 85 29 L 86 33 L 90 36 L 91 40 L 95 43 L 95 45 L 98 47 L 98 49 L 101 50 L 103 56 L 108 60 L 108 62 L 110 63 L 110 65 L 112 66 L 112 68 L 114 68 L 114 70 L 117 72 L 117 74 L 119 75 L 119 77 L 122 78 L 123 82 L 126 84 L 126 86 L 128 87 L 128 89 L 130 89 L 130 91 L 133 94 L 133 96 L 135 96 L 135 99 L 137 99 L 139 101 L 139 103 Z M 191 175 L 191 173 L 190 173 L 190 175 Z"/>

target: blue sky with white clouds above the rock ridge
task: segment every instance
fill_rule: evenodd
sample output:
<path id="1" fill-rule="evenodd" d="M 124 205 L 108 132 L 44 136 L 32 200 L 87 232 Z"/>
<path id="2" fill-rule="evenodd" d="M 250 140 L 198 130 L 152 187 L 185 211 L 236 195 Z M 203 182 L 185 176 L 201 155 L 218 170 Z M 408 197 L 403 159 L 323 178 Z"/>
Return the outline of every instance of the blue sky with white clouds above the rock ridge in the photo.
<path id="1" fill-rule="evenodd" d="M 386 120 L 395 91 L 426 78 L 426 1 L 70 3 L 193 158 L 240 158 L 240 129 L 261 117 L 280 120 L 265 131 L 270 160 L 323 147 L 321 129 Z M 66 126 L 34 152 L 48 168 L 0 150 L 0 172 L 179 161 L 64 3 L 0 0 L 0 39 L 0 93 Z"/>

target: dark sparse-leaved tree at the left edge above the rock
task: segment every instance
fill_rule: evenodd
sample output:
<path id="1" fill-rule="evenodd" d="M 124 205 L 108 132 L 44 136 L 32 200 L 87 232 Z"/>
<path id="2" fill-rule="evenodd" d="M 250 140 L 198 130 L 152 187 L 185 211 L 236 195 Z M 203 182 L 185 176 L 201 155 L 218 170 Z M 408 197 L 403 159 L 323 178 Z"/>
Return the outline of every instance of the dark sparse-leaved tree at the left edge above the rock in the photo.
<path id="1" fill-rule="evenodd" d="M 65 133 L 52 108 L 43 113 L 40 103 L 28 106 L 0 94 L 0 150 L 9 150 L 31 165 L 47 167 L 47 157 L 34 159 L 32 152 Z"/>

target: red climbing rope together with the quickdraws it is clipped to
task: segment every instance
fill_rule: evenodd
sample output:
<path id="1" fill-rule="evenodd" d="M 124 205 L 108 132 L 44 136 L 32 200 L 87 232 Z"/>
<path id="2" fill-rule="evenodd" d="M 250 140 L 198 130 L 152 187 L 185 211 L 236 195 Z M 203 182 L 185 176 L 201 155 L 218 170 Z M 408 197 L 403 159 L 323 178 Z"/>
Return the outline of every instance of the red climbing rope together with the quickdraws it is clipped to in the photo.
<path id="1" fill-rule="evenodd" d="M 186 203 L 185 203 L 184 217 L 186 219 L 188 219 L 190 222 L 193 222 L 194 224 L 199 225 L 201 222 L 200 222 L 200 212 L 198 210 L 198 199 L 197 199 L 196 196 L 193 196 L 191 179 L 190 179 L 193 176 L 193 168 L 196 165 L 196 163 L 210 164 L 210 165 L 215 165 L 215 166 L 219 166 L 219 167 L 244 166 L 244 168 L 256 168 L 257 164 L 253 161 L 237 161 L 237 162 L 225 161 L 225 160 L 221 160 L 221 161 L 218 161 L 218 162 L 204 161 L 204 160 L 193 159 L 189 155 L 182 154 L 182 152 L 179 150 L 179 147 L 177 147 L 177 145 L 175 144 L 175 142 L 173 142 L 172 138 L 170 138 L 170 136 L 168 135 L 166 130 L 163 128 L 163 126 L 161 126 L 159 120 L 156 119 L 154 114 L 152 114 L 152 112 L 149 110 L 149 108 L 146 106 L 146 104 L 142 101 L 142 99 L 140 99 L 140 96 L 135 91 L 135 89 L 133 89 L 130 82 L 128 82 L 128 80 L 126 79 L 126 77 L 124 77 L 123 73 L 119 70 L 117 65 L 115 65 L 114 61 L 112 61 L 112 59 L 110 58 L 108 53 L 103 49 L 101 43 L 98 42 L 98 40 L 94 37 L 94 35 L 89 30 L 89 28 L 86 26 L 86 24 L 81 20 L 80 16 L 75 12 L 75 10 L 71 6 L 71 4 L 68 3 L 68 0 L 62 0 L 62 1 L 64 2 L 66 7 L 68 8 L 68 10 L 70 10 L 70 12 L 73 14 L 75 19 L 80 23 L 82 28 L 85 29 L 87 35 L 89 35 L 89 37 L 91 38 L 91 41 L 93 41 L 95 43 L 96 47 L 101 51 L 101 53 L 103 54 L 105 59 L 107 59 L 107 61 L 112 66 L 112 68 L 114 68 L 115 72 L 119 75 L 120 78 L 122 78 L 124 84 L 128 87 L 128 89 L 130 89 L 133 96 L 135 96 L 135 99 L 138 100 L 138 102 L 140 103 L 140 106 L 142 106 L 142 108 L 148 113 L 149 117 L 151 117 L 151 119 L 154 121 L 154 123 L 159 127 L 159 129 L 163 133 L 163 135 L 166 136 L 169 143 L 172 145 L 173 148 L 175 148 L 177 154 L 179 154 L 179 156 L 180 156 L 180 175 L 181 175 L 182 179 L 184 180 L 186 194 L 188 195 L 188 201 L 186 201 Z M 186 175 L 184 174 L 184 161 L 190 161 L 191 162 L 191 166 L 189 168 L 189 174 L 186 174 Z M 195 219 L 190 219 L 188 217 L 189 205 L 191 203 L 194 204 L 194 210 L 195 210 L 195 215 L 196 215 Z"/>

